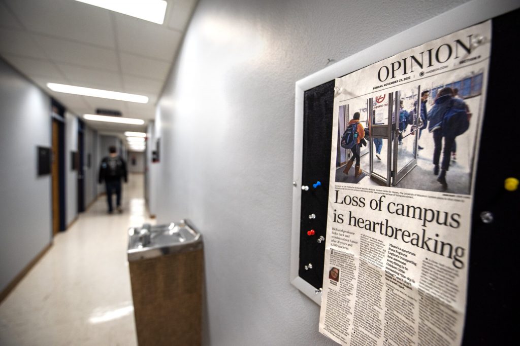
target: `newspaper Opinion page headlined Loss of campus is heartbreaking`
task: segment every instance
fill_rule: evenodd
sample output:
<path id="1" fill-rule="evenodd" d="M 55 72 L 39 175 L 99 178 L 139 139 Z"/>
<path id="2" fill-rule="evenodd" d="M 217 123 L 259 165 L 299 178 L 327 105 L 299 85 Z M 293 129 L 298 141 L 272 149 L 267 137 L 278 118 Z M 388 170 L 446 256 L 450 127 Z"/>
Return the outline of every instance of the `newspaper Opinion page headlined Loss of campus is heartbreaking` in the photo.
<path id="1" fill-rule="evenodd" d="M 488 21 L 336 79 L 319 324 L 334 341 L 461 343 L 490 44 Z"/>

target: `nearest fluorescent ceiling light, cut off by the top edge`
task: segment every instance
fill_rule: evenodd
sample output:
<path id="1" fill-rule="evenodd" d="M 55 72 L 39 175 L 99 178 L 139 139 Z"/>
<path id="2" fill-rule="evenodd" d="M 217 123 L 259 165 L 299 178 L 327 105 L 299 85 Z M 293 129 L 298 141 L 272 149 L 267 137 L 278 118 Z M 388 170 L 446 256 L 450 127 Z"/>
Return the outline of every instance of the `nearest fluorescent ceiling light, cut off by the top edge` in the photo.
<path id="1" fill-rule="evenodd" d="M 105 8 L 123 15 L 162 24 L 167 3 L 163 0 L 76 0 L 80 3 Z"/>

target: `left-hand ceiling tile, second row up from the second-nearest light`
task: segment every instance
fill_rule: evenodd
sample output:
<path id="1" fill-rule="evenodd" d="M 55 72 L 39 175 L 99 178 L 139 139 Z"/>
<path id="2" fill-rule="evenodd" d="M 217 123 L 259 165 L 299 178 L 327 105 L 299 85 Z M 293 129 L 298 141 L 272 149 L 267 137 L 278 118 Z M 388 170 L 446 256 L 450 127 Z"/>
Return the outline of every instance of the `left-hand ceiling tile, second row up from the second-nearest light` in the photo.
<path id="1" fill-rule="evenodd" d="M 47 56 L 57 62 L 76 66 L 93 67 L 99 70 L 118 72 L 115 50 L 60 40 L 41 35 L 32 35 L 45 50 Z"/>

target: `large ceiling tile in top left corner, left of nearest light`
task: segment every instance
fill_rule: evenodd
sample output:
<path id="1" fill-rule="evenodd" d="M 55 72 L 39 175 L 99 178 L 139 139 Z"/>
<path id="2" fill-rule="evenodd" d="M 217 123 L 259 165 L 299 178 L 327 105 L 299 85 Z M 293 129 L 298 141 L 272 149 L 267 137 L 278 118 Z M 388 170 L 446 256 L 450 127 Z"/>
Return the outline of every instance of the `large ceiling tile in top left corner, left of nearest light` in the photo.
<path id="1" fill-rule="evenodd" d="M 6 0 L 7 6 L 31 32 L 112 47 L 109 11 L 71 0 Z"/>

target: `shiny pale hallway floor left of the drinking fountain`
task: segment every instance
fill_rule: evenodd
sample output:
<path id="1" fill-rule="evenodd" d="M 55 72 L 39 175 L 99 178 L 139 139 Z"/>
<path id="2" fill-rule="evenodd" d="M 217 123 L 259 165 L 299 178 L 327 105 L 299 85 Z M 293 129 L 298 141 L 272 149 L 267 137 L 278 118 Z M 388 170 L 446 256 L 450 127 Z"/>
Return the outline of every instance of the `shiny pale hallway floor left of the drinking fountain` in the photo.
<path id="1" fill-rule="evenodd" d="M 144 176 L 129 174 L 123 213 L 98 198 L 0 305 L 0 344 L 135 345 L 127 229 L 147 217 Z"/>

